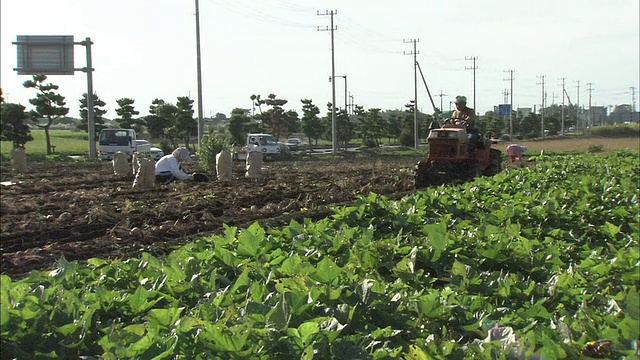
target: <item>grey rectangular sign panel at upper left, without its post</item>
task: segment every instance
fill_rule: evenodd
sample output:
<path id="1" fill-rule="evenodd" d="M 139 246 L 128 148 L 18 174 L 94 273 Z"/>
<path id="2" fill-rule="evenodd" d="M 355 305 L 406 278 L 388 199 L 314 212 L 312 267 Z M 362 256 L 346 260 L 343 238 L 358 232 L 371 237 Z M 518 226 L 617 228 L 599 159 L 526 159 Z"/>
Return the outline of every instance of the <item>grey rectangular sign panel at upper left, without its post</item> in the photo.
<path id="1" fill-rule="evenodd" d="M 18 75 L 73 75 L 73 36 L 18 35 Z"/>

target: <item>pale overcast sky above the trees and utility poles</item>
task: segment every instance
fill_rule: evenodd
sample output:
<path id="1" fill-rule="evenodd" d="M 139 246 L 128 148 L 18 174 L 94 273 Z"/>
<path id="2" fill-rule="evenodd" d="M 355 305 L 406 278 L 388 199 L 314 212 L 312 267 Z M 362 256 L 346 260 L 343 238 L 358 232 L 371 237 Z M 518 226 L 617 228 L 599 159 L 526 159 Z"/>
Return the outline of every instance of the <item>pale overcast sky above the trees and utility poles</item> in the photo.
<path id="1" fill-rule="evenodd" d="M 513 72 L 513 106 L 640 102 L 638 0 L 200 0 L 204 115 L 251 108 L 252 94 L 331 101 L 330 16 L 334 16 L 336 103 L 347 92 L 365 109 L 403 109 L 414 98 L 413 44 L 436 106 L 465 95 L 480 113 L 505 103 Z M 90 37 L 94 91 L 114 118 L 116 100 L 135 100 L 147 115 L 155 98 L 190 96 L 197 114 L 195 0 L 2 0 L 0 86 L 5 98 L 31 108 L 35 90 L 18 76 L 17 35 Z M 75 66 L 86 65 L 75 47 Z M 418 72 L 418 107 L 433 107 Z M 506 80 L 507 79 L 507 80 Z M 87 92 L 83 72 L 51 75 L 70 116 Z M 591 84 L 591 85 L 589 85 Z M 579 92 L 578 92 L 579 85 Z M 442 94 L 442 96 L 440 96 Z M 579 96 L 579 99 L 578 99 Z M 565 103 L 568 100 L 565 99 Z M 507 100 L 506 103 L 509 103 Z M 636 105 L 636 109 L 638 106 Z"/>

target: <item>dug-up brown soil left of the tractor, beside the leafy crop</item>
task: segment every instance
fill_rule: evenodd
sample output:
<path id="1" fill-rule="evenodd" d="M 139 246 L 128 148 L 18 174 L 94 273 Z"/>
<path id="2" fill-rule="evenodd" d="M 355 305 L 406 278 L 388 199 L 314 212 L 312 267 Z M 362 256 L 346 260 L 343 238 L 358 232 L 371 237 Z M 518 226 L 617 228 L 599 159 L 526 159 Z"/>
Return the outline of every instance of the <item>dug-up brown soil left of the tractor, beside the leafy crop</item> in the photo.
<path id="1" fill-rule="evenodd" d="M 264 163 L 262 179 L 234 162 L 232 182 L 174 182 L 132 189 L 111 162 L 34 163 L 27 174 L 1 170 L 0 273 L 14 279 L 68 261 L 162 255 L 223 224 L 282 226 L 321 219 L 331 207 L 370 192 L 400 198 L 413 192 L 417 157 Z M 201 170 L 197 165 L 188 170 Z M 211 174 L 211 177 L 213 175 Z"/>

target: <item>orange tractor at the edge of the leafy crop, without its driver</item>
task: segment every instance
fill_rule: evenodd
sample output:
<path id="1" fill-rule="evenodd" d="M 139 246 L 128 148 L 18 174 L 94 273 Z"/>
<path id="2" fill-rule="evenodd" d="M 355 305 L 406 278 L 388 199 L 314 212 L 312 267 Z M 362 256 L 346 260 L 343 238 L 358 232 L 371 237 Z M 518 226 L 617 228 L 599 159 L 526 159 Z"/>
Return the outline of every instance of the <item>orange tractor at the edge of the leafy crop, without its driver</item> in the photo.
<path id="1" fill-rule="evenodd" d="M 415 187 L 464 182 L 493 176 L 502 167 L 502 152 L 491 148 L 491 139 L 480 138 L 470 151 L 464 125 L 445 124 L 429 133 L 429 157 L 416 165 Z"/>

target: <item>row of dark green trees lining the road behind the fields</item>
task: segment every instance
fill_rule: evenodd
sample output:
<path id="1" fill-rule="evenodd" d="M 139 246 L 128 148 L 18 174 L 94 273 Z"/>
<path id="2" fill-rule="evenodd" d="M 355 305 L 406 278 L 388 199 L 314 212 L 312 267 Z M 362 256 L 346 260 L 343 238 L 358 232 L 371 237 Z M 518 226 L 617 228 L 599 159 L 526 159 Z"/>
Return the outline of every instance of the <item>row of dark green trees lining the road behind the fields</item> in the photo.
<path id="1" fill-rule="evenodd" d="M 53 122 L 68 114 L 64 96 L 57 93 L 58 86 L 45 83 L 46 75 L 34 75 L 33 79 L 25 81 L 23 86 L 36 91 L 34 98 L 29 100 L 33 109 L 26 112 L 20 104 L 5 104 L 2 99 L 2 140 L 12 141 L 14 147 L 24 147 L 33 138 L 30 135 L 26 121 L 44 129 L 47 141 L 47 153 L 51 154 L 49 128 Z M 269 132 L 276 138 L 286 138 L 292 133 L 304 133 L 309 144 L 316 144 L 319 140 L 332 139 L 332 104 L 327 104 L 327 113 L 320 116 L 320 109 L 311 99 L 302 99 L 302 116 L 295 110 L 288 110 L 285 106 L 288 100 L 278 98 L 275 94 L 266 97 L 251 95 L 254 111 L 235 108 L 231 112 L 225 133 L 231 141 L 242 144 L 247 133 Z M 94 120 L 96 139 L 105 125 L 104 110 L 106 105 L 97 94 L 93 94 Z M 163 99 L 154 99 L 149 107 L 149 115 L 139 117 L 135 109 L 135 101 L 131 98 L 116 100 L 117 117 L 114 121 L 122 128 L 135 129 L 138 133 L 148 132 L 152 139 L 159 139 L 170 143 L 172 147 L 185 144 L 191 147 L 191 139 L 197 136 L 197 121 L 194 119 L 193 100 L 189 97 L 177 97 L 176 103 Z M 87 126 L 87 94 L 80 99 L 81 122 L 78 129 L 88 131 Z M 257 108 L 257 112 L 255 111 Z M 364 109 L 355 106 L 352 114 L 347 109 L 336 112 L 336 132 L 340 147 L 346 147 L 354 139 L 360 139 L 365 146 L 379 146 L 385 139 L 388 142 L 399 142 L 401 145 L 414 145 L 414 104 L 410 101 L 403 110 L 386 110 L 379 108 Z M 568 108 L 567 111 L 571 109 Z M 421 139 L 428 135 L 429 128 L 436 126 L 437 119 L 431 115 L 418 113 L 418 133 Z M 498 116 L 495 112 L 487 112 L 480 116 L 477 124 L 483 133 L 497 135 L 508 133 L 508 120 Z M 565 120 L 565 127 L 575 125 L 575 120 Z M 526 117 L 515 117 L 513 121 L 514 133 L 522 137 L 535 137 L 541 133 L 540 115 L 531 113 Z M 545 117 L 545 128 L 551 134 L 560 131 L 560 120 L 556 116 Z"/>

